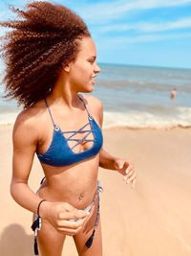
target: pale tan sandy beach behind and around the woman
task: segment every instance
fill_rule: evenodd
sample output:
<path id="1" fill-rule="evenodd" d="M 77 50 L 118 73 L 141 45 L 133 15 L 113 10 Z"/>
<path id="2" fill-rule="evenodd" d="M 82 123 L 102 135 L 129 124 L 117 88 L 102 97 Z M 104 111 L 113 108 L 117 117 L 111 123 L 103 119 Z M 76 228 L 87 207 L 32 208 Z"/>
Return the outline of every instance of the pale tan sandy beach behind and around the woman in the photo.
<path id="1" fill-rule="evenodd" d="M 10 195 L 11 129 L 0 127 L 0 256 L 32 256 L 32 213 Z M 191 255 L 191 129 L 105 129 L 104 148 L 133 160 L 138 184 L 99 170 L 104 187 L 101 222 L 104 256 Z M 30 186 L 43 177 L 34 159 Z M 64 256 L 77 256 L 72 238 Z"/>

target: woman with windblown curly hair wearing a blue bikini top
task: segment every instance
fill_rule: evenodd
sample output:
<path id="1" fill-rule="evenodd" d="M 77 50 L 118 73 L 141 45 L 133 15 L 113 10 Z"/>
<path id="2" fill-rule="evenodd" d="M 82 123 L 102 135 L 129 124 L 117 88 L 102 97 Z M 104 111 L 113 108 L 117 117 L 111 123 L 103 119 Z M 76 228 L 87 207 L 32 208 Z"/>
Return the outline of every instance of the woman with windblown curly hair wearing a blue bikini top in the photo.
<path id="1" fill-rule="evenodd" d="M 13 128 L 11 196 L 34 214 L 35 255 L 38 242 L 42 256 L 61 256 L 69 235 L 78 255 L 101 256 L 98 167 L 132 188 L 136 172 L 102 147 L 103 108 L 89 95 L 100 72 L 95 42 L 64 6 L 40 1 L 12 10 L 20 19 L 1 22 L 12 29 L 3 47 L 5 84 L 24 110 Z M 28 184 L 35 153 L 45 175 L 37 193 Z"/>

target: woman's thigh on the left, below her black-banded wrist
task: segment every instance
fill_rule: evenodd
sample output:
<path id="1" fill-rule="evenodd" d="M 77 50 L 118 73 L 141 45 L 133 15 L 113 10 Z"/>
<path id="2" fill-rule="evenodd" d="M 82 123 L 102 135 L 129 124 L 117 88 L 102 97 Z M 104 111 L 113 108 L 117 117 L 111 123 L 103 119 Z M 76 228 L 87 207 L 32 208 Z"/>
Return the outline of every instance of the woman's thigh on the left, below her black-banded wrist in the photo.
<path id="1" fill-rule="evenodd" d="M 42 256 L 61 256 L 66 236 L 57 232 L 47 221 L 38 231 L 38 246 Z"/>

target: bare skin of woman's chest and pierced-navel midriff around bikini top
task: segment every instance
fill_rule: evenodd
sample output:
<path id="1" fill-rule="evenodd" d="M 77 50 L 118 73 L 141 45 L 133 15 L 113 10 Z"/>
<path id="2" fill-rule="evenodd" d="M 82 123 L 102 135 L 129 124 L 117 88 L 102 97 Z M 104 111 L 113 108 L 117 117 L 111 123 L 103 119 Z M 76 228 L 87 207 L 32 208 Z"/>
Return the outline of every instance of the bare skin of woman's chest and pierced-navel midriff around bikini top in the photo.
<path id="1" fill-rule="evenodd" d="M 89 103 L 89 105 L 91 105 Z M 43 106 L 43 107 L 42 107 Z M 87 109 L 80 105 L 74 108 L 73 112 L 59 111 L 58 107 L 49 105 L 48 109 L 45 103 L 40 103 L 39 114 L 36 116 L 38 124 L 39 139 L 37 153 L 46 153 L 53 142 L 53 122 L 62 131 L 78 130 L 82 128 L 88 121 Z M 61 107 L 60 107 L 61 109 Z M 53 117 L 50 117 L 50 112 Z M 99 117 L 94 105 L 89 106 L 96 125 L 99 126 Z M 91 124 L 86 127 L 91 130 Z M 68 138 L 71 133 L 64 133 L 64 137 Z M 94 132 L 89 132 L 88 139 L 90 141 L 77 144 L 76 141 L 68 141 L 68 146 L 74 153 L 80 154 L 82 151 L 90 151 L 94 146 Z M 76 133 L 74 138 L 81 139 L 84 133 Z M 69 149 L 70 151 L 70 149 Z M 74 155 L 75 156 L 75 155 Z M 75 157 L 74 157 L 75 158 Z M 99 163 L 99 154 L 92 157 L 84 157 L 82 161 L 74 164 L 55 167 L 50 164 L 41 163 L 46 181 L 40 187 L 38 194 L 41 198 L 51 201 L 67 201 L 78 209 L 84 209 L 91 203 L 96 194 L 97 171 Z"/>

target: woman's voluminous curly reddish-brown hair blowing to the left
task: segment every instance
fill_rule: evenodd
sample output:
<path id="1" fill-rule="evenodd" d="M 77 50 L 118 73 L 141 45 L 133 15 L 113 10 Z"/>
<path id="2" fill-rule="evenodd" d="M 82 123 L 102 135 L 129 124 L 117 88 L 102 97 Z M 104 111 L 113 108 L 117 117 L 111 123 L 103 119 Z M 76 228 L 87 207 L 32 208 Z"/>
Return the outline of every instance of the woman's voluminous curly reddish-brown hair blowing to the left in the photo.
<path id="1" fill-rule="evenodd" d="M 53 89 L 60 69 L 73 61 L 79 40 L 91 36 L 83 20 L 70 9 L 35 1 L 27 10 L 11 7 L 20 19 L 0 22 L 11 28 L 1 49 L 6 61 L 6 98 L 25 108 L 43 99 Z"/>

